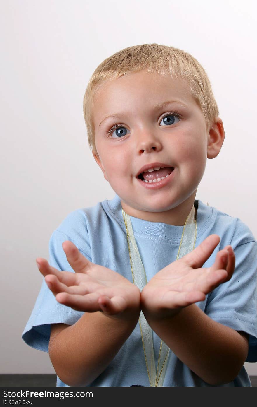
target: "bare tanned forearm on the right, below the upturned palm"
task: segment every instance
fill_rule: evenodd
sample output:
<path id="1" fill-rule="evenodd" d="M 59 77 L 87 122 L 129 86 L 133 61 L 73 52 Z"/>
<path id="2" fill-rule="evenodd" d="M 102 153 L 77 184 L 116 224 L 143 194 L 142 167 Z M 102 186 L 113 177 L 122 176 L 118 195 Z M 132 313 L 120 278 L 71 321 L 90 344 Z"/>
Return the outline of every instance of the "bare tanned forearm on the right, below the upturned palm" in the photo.
<path id="1" fill-rule="evenodd" d="M 210 385 L 232 381 L 247 354 L 244 339 L 235 330 L 209 318 L 196 304 L 166 319 L 151 317 L 147 322 L 172 352 Z"/>

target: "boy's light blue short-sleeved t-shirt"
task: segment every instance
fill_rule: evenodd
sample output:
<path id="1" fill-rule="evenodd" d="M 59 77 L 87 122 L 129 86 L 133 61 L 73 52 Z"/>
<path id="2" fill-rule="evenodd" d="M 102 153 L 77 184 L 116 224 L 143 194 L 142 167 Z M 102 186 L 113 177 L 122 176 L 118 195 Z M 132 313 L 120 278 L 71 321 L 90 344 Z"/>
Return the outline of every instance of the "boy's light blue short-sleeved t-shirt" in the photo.
<path id="1" fill-rule="evenodd" d="M 210 234 L 220 236 L 220 243 L 203 267 L 212 266 L 217 252 L 227 245 L 231 245 L 235 252 L 235 271 L 231 279 L 220 284 L 206 295 L 204 301 L 196 304 L 214 321 L 248 333 L 249 352 L 246 361 L 257 362 L 257 242 L 251 230 L 240 219 L 207 206 L 200 200 L 195 200 L 194 205 L 197 207 L 195 247 Z M 149 281 L 158 271 L 176 260 L 183 226 L 150 222 L 132 216 L 130 219 Z M 73 271 L 62 247 L 66 240 L 72 241 L 93 263 L 108 267 L 132 282 L 127 235 L 118 195 L 93 207 L 71 212 L 53 232 L 49 242 L 50 265 L 60 271 Z M 83 312 L 58 303 L 43 280 L 22 339 L 29 346 L 48 352 L 50 324 L 72 325 L 82 315 Z M 157 365 L 160 339 L 154 332 L 153 346 Z M 135 384 L 150 386 L 139 323 L 91 386 Z M 67 385 L 57 376 L 57 386 Z M 163 386 L 209 384 L 192 372 L 171 350 Z M 251 386 L 244 366 L 238 376 L 225 386 Z"/>

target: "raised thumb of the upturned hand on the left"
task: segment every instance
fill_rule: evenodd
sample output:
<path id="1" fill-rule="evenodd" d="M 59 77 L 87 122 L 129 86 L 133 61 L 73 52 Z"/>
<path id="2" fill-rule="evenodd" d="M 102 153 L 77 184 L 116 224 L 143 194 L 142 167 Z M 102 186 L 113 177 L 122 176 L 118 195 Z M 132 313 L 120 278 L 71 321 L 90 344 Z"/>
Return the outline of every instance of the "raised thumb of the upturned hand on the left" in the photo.
<path id="1" fill-rule="evenodd" d="M 62 246 L 68 263 L 71 265 L 75 273 L 87 273 L 92 268 L 93 263 L 83 256 L 78 247 L 76 247 L 71 241 L 65 240 Z"/>

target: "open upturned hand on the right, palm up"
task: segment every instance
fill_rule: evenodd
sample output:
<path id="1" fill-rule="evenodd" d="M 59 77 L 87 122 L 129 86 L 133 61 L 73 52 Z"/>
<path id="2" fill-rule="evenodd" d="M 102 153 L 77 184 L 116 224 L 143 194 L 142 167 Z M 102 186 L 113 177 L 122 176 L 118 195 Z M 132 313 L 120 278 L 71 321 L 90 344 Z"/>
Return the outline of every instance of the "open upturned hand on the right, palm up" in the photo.
<path id="1" fill-rule="evenodd" d="M 145 316 L 150 313 L 152 317 L 171 317 L 184 307 L 203 301 L 206 294 L 229 281 L 235 269 L 231 246 L 217 253 L 212 267 L 201 267 L 219 242 L 219 236 L 212 234 L 192 252 L 155 274 L 141 292 L 141 308 Z"/>

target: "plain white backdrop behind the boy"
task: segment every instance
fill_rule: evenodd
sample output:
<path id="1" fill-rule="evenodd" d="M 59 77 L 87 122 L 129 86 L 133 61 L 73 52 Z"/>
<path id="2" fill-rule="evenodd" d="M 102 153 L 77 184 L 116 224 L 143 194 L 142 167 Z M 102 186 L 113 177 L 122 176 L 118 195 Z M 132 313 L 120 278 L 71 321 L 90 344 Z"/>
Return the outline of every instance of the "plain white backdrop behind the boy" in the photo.
<path id="1" fill-rule="evenodd" d="M 257 236 L 255 1 L 2 0 L 1 374 L 54 373 L 21 339 L 52 232 L 69 212 L 112 199 L 88 147 L 82 101 L 95 68 L 128 46 L 186 50 L 203 65 L 225 127 L 197 199 Z M 257 375 L 257 363 L 245 363 Z"/>

